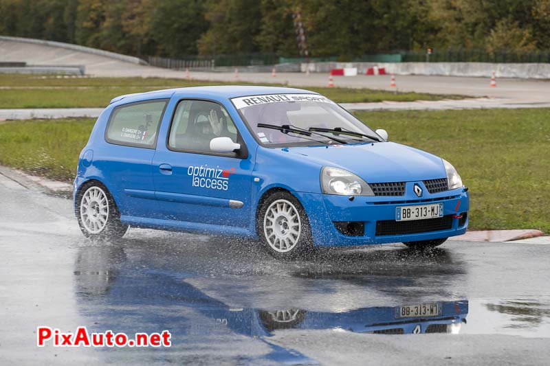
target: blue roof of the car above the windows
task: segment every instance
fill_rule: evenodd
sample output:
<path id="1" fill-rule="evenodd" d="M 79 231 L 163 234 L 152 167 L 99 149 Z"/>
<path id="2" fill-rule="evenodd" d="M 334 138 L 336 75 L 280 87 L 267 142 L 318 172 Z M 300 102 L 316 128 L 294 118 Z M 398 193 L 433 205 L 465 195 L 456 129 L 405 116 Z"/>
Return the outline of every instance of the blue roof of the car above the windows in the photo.
<path id="1" fill-rule="evenodd" d="M 261 87 L 256 85 L 209 85 L 206 87 L 187 87 L 187 88 L 174 88 L 164 89 L 158 91 L 148 91 L 146 93 L 135 93 L 120 95 L 111 100 L 111 103 L 118 100 L 122 100 L 128 97 L 145 97 L 147 99 L 159 98 L 162 95 L 190 95 L 196 93 L 197 97 L 208 95 L 214 98 L 237 98 L 245 97 L 248 95 L 260 95 L 260 94 L 283 94 L 283 93 L 314 93 L 305 89 L 286 88 L 286 87 Z"/>

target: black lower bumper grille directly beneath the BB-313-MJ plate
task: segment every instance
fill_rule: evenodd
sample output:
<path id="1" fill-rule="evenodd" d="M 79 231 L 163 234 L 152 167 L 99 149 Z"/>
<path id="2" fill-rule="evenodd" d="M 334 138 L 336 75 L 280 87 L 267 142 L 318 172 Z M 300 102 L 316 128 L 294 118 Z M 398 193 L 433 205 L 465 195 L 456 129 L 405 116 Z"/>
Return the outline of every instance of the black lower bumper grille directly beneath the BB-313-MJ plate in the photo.
<path id="1" fill-rule="evenodd" d="M 452 228 L 452 215 L 426 220 L 376 222 L 376 236 L 427 233 L 429 231 L 448 230 Z"/>

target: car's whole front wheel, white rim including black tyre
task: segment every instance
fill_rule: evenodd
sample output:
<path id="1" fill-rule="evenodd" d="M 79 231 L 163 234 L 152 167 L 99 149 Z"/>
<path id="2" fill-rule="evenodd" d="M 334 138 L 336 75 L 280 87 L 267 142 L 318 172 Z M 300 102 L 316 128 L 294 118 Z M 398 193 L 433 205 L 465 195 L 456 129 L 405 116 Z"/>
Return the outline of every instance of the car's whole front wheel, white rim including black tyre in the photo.
<path id="1" fill-rule="evenodd" d="M 264 247 L 278 259 L 302 257 L 314 252 L 305 209 L 288 192 L 276 192 L 261 206 L 256 229 Z"/>

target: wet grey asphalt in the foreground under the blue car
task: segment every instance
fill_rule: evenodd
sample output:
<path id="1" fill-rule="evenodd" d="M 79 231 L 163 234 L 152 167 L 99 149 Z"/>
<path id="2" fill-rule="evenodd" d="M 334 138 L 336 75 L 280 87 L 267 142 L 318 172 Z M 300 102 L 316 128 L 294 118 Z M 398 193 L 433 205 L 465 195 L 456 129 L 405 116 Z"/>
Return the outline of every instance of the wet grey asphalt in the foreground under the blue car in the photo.
<path id="1" fill-rule="evenodd" d="M 395 244 L 282 263 L 253 243 L 183 233 L 91 242 L 70 201 L 2 175 L 0 202 L 1 365 L 548 364 L 548 245 Z M 459 334 L 360 333 L 383 310 L 445 301 L 467 306 Z M 173 346 L 39 349 L 38 325 L 170 330 Z"/>

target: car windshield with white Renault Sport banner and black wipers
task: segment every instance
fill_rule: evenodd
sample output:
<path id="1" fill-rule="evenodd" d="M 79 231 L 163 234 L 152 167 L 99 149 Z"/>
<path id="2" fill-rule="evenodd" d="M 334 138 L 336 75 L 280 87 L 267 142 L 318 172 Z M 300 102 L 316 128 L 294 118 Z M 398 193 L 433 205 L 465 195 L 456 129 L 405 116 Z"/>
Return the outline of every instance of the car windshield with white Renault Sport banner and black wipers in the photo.
<path id="1" fill-rule="evenodd" d="M 371 128 L 322 95 L 254 95 L 233 98 L 232 102 L 252 133 L 261 144 L 266 146 L 333 144 L 335 141 L 345 141 L 350 144 L 380 139 Z M 272 126 L 259 127 L 258 124 Z M 307 135 L 292 132 L 292 130 L 281 131 L 281 129 L 275 129 L 275 126 L 307 130 L 312 133 Z M 328 131 L 334 129 L 336 132 Z M 353 134 L 342 134 L 342 131 Z"/>

